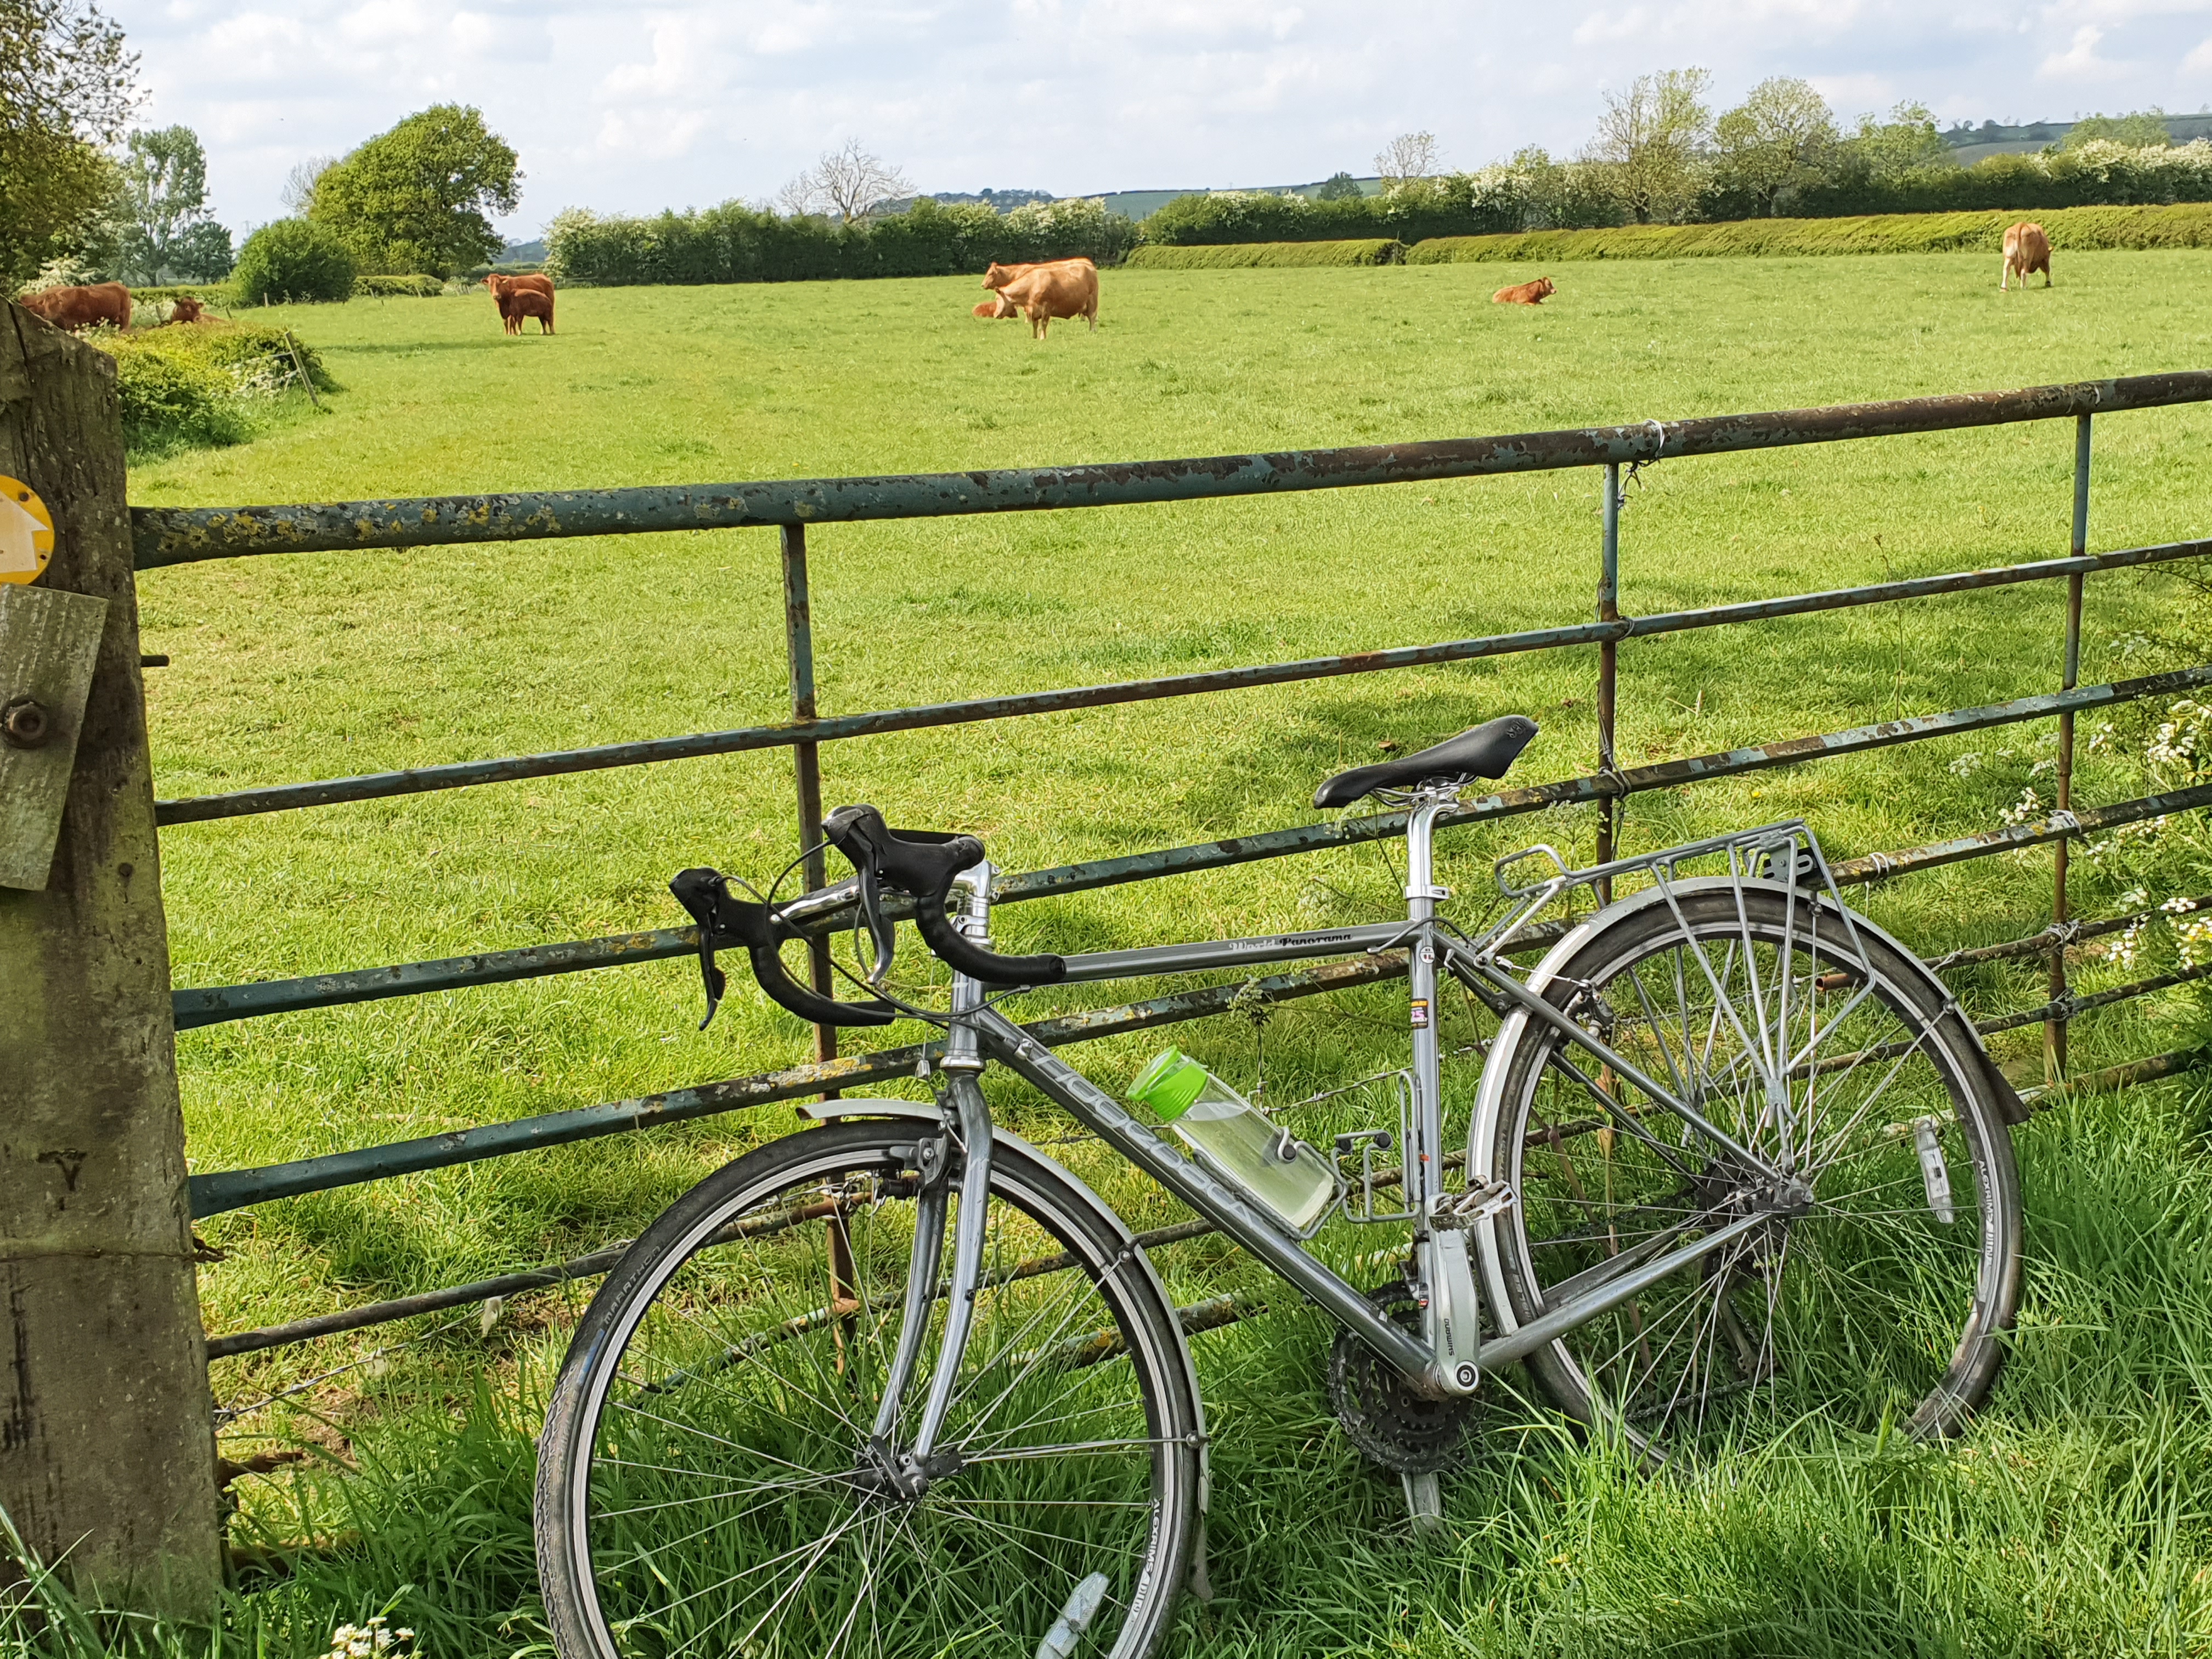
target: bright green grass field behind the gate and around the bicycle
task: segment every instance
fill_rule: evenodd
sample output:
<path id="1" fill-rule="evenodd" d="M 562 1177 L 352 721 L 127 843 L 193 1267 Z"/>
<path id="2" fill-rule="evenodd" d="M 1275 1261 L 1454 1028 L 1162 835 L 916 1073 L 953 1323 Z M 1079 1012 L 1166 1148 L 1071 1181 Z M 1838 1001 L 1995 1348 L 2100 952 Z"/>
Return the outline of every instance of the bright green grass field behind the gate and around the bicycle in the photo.
<path id="1" fill-rule="evenodd" d="M 250 445 L 133 473 L 139 504 L 241 504 L 1234 453 L 1774 409 L 2194 367 L 2212 252 L 2068 254 L 2000 294 L 1980 254 L 1575 265 L 1537 312 L 1486 294 L 1535 268 L 1106 272 L 1097 334 L 975 321 L 969 281 L 575 290 L 553 338 L 489 299 L 356 301 L 274 319 L 343 392 Z M 1557 274 L 1557 272 L 1555 272 Z M 2212 531 L 2212 411 L 2099 425 L 2093 549 Z M 1798 593 L 2064 553 L 2066 422 L 1681 460 L 1624 515 L 1624 611 Z M 1540 473 L 1276 500 L 825 526 L 810 538 L 825 712 L 1079 686 L 1498 633 L 1590 615 L 1597 480 Z M 776 721 L 770 531 L 327 553 L 142 580 L 161 796 Z M 2170 575 L 2090 584 L 2084 681 L 2146 672 Z M 1701 754 L 2057 684 L 2055 586 L 1834 613 L 1621 653 L 1621 754 Z M 2150 646 L 2143 646 L 2150 637 Z M 1593 761 L 1595 650 L 849 741 L 832 803 L 973 830 L 1009 869 L 1310 821 L 1325 772 L 1526 710 L 1517 776 Z M 2084 759 L 2077 801 L 2141 794 L 2146 723 Z M 1832 854 L 1989 827 L 2048 790 L 2048 734 L 2008 728 L 1641 796 L 1628 847 L 1805 814 Z M 1975 754 L 1978 761 L 1964 761 Z M 2046 770 L 2046 768 L 2044 768 Z M 1453 832 L 1462 894 L 1524 841 L 1588 856 L 1559 812 Z M 2148 843 L 2146 843 L 2148 845 Z M 2185 847 L 2084 863 L 2079 907 L 2192 880 Z M 757 878 L 792 854 L 779 754 L 190 825 L 164 836 L 177 984 L 230 984 L 668 927 L 668 876 Z M 2148 863 L 2146 863 L 2148 860 Z M 2201 867 L 2201 865 L 2199 865 Z M 2203 880 L 2203 876 L 2194 876 Z M 2159 885 L 2163 883 L 2163 885 Z M 1387 914 L 1376 849 L 1272 860 L 1004 911 L 1006 949 L 1095 949 Z M 2205 891 L 2205 887 L 2188 887 Z M 1924 951 L 2046 920 L 2048 856 L 1867 889 Z M 2039 967 L 1962 978 L 1975 1011 Z M 2139 971 L 2139 969 L 2137 969 Z M 2090 989 L 2132 978 L 2086 960 Z M 1148 991 L 1126 991 L 1148 993 Z M 1124 993 L 1124 995 L 1126 995 Z M 1099 993 L 1095 1000 L 1121 1000 Z M 1073 998 L 1031 998 L 1029 1018 Z M 2185 1000 L 2084 1020 L 2084 1066 L 2174 1046 Z M 807 1033 L 750 989 L 699 1033 L 664 962 L 283 1015 L 179 1037 L 195 1170 L 405 1139 L 768 1071 Z M 1272 1097 L 1374 1068 L 1378 991 L 1285 1009 Z M 902 1033 L 894 1033 L 894 1040 Z M 1161 1033 L 1075 1051 L 1119 1084 Z M 1250 1077 L 1241 1022 L 1172 1037 Z M 2039 1033 L 2000 1042 L 2033 1068 Z M 1037 1108 L 1004 1095 L 1009 1121 Z M 703 1172 L 787 1133 L 783 1108 L 219 1217 L 210 1329 L 555 1261 L 635 1234 Z M 2112 1652 L 2212 1641 L 2212 1181 L 2185 1086 L 2086 1099 L 2020 1135 L 2031 1270 L 2020 1352 L 1955 1449 L 1805 1427 L 1741 1460 L 1641 1478 L 1500 1407 L 1413 1544 L 1396 1482 L 1327 1420 L 1325 1332 L 1279 1314 L 1194 1338 L 1214 1413 L 1214 1579 L 1183 1652 Z M 1044 1133 L 1042 1128 L 1037 1133 Z M 1064 1130 L 1060 1130 L 1064 1133 Z M 1084 1161 L 1139 1221 L 1166 1217 Z M 1248 1283 L 1164 1252 L 1179 1298 Z M 1188 1294 L 1186 1294 L 1188 1292 Z M 257 1652 L 312 1655 L 396 1599 L 422 1652 L 542 1641 L 529 1444 L 577 1298 L 529 1296 L 241 1418 L 226 1447 L 316 1462 L 241 1486 L 239 1537 L 347 1535 L 241 1601 Z M 429 1323 L 217 1365 L 250 1405 Z M 257 1438 L 268 1436 L 268 1438 Z M 239 1455 L 239 1451 L 232 1451 Z M 352 1473 L 347 1473 L 352 1471 Z"/>

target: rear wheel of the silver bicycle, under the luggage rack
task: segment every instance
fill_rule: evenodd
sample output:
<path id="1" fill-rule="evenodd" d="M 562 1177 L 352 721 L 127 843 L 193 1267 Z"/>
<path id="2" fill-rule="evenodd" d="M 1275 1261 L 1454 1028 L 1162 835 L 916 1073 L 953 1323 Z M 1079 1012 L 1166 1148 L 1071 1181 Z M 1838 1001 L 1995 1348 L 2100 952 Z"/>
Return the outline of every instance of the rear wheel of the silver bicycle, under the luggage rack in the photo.
<path id="1" fill-rule="evenodd" d="M 1962 1020 L 1944 1018 L 1940 987 L 1902 947 L 1803 891 L 1681 883 L 1677 905 L 1648 891 L 1601 911 L 1531 982 L 1584 1029 L 1610 1022 L 1615 1048 L 1655 1082 L 1674 1066 L 1708 1121 L 1759 1155 L 1801 1148 L 1812 1206 L 1537 1349 L 1528 1369 L 1564 1411 L 1655 1458 L 1807 1411 L 1955 1433 L 2004 1363 L 2022 1230 L 2011 1135 Z M 1750 1060 L 1770 1022 L 1790 1044 L 1767 1073 L 1783 1104 Z M 1571 1040 L 1526 1013 L 1498 1044 L 1469 1168 L 1517 1199 L 1484 1237 L 1491 1298 L 1517 1329 L 1546 1310 L 1548 1285 L 1635 1248 L 1639 1230 L 1717 1223 L 1725 1159 L 1626 1079 L 1606 1079 L 1626 1121 L 1608 1113 L 1553 1064 Z M 1920 1121 L 1953 1183 L 1949 1221 Z"/>

